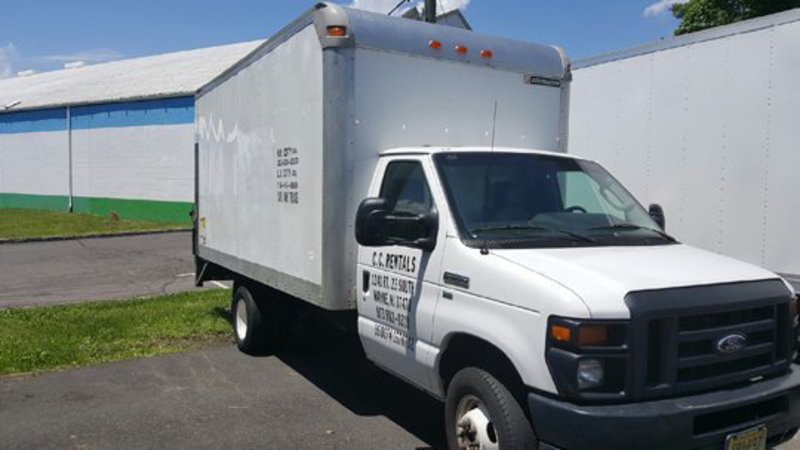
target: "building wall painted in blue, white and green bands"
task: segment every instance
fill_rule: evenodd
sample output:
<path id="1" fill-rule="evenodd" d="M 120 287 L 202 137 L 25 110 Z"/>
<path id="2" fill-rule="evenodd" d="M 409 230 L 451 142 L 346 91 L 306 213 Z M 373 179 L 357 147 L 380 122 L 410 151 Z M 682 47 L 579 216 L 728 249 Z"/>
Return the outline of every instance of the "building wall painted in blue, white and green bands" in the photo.
<path id="1" fill-rule="evenodd" d="M 0 113 L 0 208 L 187 222 L 194 131 L 191 96 Z"/>

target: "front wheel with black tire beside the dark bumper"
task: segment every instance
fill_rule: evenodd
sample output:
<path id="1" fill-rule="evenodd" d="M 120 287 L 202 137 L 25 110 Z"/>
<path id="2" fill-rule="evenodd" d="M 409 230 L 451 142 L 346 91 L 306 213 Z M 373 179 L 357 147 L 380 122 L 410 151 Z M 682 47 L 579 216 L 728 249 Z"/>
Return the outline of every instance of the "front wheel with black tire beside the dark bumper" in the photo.
<path id="1" fill-rule="evenodd" d="M 450 449 L 538 448 L 519 403 L 485 370 L 468 367 L 456 373 L 447 389 L 444 415 Z"/>

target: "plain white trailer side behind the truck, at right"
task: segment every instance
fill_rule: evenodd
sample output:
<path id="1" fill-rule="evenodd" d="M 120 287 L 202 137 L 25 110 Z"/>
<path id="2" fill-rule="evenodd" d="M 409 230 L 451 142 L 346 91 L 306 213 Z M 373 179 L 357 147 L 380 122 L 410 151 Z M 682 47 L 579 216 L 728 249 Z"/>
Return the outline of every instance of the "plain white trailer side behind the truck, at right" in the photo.
<path id="1" fill-rule="evenodd" d="M 570 152 L 686 242 L 800 283 L 800 9 L 579 61 Z"/>

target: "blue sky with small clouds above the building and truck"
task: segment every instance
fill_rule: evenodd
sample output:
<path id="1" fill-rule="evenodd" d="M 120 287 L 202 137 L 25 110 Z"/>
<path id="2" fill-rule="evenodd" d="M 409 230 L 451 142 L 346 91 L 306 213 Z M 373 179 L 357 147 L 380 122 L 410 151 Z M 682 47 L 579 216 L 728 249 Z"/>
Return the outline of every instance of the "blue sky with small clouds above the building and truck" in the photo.
<path id="1" fill-rule="evenodd" d="M 388 11 L 399 0 L 338 0 Z M 573 60 L 672 34 L 676 0 L 439 0 L 476 31 L 566 48 Z M 679 0 L 678 0 L 679 1 Z M 3 0 L 0 77 L 262 39 L 310 0 Z M 412 1 L 413 4 L 416 3 Z"/>

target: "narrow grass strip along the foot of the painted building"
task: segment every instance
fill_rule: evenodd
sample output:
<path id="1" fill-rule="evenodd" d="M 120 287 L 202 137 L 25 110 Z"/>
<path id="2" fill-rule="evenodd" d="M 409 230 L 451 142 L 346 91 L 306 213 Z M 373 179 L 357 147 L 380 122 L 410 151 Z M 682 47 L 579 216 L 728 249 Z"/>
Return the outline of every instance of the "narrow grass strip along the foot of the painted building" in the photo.
<path id="1" fill-rule="evenodd" d="M 0 240 L 189 229 L 187 224 L 121 220 L 58 211 L 0 209 Z"/>

